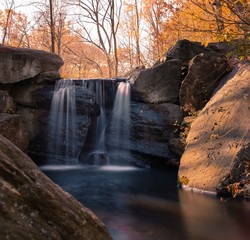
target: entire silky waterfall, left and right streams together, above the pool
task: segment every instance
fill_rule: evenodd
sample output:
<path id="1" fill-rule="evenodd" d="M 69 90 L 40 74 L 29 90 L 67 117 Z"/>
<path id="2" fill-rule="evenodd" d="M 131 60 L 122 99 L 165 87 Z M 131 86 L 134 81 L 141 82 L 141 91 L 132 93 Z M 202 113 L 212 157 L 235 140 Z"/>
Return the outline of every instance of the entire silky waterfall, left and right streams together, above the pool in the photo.
<path id="1" fill-rule="evenodd" d="M 73 80 L 56 83 L 49 120 L 49 164 L 77 164 L 80 156 L 79 162 L 119 165 L 119 155 L 129 158 L 130 85 L 120 82 L 118 88 L 116 86 L 117 81 L 113 80 L 85 80 L 81 85 Z M 90 116 L 86 119 L 82 113 L 77 116 L 77 111 L 80 114 L 83 106 L 79 100 L 86 101 L 82 96 L 88 98 L 94 93 L 100 114 L 92 117 L 91 127 L 87 128 L 88 134 L 84 140 L 81 135 L 86 129 L 83 122 L 90 120 Z M 83 141 L 80 142 L 80 139 Z M 83 145 L 86 147 L 82 148 Z"/>

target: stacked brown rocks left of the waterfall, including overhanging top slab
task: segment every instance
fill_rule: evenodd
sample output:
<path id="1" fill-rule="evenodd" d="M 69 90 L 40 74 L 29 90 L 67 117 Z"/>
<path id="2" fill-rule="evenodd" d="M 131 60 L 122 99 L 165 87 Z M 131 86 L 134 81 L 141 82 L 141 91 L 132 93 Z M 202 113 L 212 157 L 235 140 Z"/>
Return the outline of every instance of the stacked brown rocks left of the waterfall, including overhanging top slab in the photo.
<path id="1" fill-rule="evenodd" d="M 11 134 L 3 129 L 1 133 L 22 150 L 27 150 L 27 141 L 38 133 L 40 118 L 49 114 L 54 82 L 60 78 L 62 64 L 55 54 L 0 45 L 0 112 L 14 114 L 4 117 Z M 22 140 L 15 139 L 16 128 L 21 129 L 17 132 Z"/>

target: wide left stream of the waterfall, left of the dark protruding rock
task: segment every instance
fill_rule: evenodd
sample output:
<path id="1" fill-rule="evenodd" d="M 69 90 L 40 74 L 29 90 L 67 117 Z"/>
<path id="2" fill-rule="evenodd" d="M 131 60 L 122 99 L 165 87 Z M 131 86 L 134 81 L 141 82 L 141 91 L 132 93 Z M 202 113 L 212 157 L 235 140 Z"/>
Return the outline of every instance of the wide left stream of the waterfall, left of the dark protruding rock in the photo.
<path id="1" fill-rule="evenodd" d="M 76 164 L 77 136 L 75 83 L 59 80 L 55 85 L 49 117 L 49 163 Z"/>

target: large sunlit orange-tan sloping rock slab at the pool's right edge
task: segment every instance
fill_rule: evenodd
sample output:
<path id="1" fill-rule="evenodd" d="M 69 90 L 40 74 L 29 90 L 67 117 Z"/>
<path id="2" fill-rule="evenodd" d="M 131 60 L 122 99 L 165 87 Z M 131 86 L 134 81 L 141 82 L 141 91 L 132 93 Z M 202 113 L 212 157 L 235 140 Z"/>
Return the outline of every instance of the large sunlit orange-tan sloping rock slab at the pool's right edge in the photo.
<path id="1" fill-rule="evenodd" d="M 178 173 L 184 187 L 216 192 L 235 176 L 232 166 L 246 161 L 239 156 L 250 142 L 250 64 L 235 67 L 225 82 L 191 125 Z"/>

